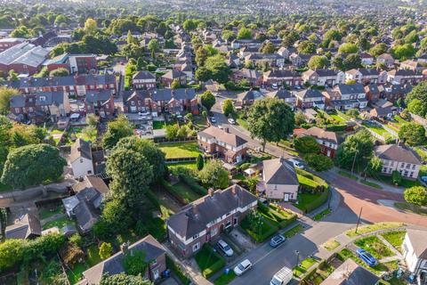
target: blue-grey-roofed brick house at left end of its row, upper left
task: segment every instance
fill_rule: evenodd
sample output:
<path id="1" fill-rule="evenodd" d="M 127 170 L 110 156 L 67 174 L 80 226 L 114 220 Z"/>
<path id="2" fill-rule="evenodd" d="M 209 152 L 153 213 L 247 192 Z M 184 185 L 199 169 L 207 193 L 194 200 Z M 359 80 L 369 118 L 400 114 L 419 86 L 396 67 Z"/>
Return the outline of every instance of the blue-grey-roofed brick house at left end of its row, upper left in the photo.
<path id="1" fill-rule="evenodd" d="M 114 116 L 114 95 L 110 90 L 91 91 L 85 97 L 86 114 L 94 114 L 100 118 Z"/>

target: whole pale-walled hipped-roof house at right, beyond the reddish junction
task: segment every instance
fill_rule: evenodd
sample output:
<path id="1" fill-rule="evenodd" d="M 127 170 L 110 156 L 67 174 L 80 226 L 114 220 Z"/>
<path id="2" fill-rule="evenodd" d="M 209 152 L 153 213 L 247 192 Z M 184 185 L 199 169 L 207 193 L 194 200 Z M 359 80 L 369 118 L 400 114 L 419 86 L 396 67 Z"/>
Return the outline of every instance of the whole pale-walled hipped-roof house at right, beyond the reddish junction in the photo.
<path id="1" fill-rule="evenodd" d="M 418 178 L 422 163 L 415 151 L 396 144 L 386 144 L 375 147 L 375 156 L 383 162 L 383 175 L 391 175 L 397 170 L 407 179 Z"/>

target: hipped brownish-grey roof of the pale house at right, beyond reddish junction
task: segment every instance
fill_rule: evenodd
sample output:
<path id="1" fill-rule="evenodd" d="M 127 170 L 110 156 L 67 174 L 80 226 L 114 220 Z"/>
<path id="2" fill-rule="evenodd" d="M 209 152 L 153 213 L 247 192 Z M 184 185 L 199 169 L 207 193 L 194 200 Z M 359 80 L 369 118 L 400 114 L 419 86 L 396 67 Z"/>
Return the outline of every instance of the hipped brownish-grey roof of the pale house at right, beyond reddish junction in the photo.
<path id="1" fill-rule="evenodd" d="M 415 151 L 411 151 L 403 146 L 396 144 L 385 144 L 375 147 L 375 155 L 380 159 L 388 159 L 421 165 L 421 161 L 415 154 Z"/>

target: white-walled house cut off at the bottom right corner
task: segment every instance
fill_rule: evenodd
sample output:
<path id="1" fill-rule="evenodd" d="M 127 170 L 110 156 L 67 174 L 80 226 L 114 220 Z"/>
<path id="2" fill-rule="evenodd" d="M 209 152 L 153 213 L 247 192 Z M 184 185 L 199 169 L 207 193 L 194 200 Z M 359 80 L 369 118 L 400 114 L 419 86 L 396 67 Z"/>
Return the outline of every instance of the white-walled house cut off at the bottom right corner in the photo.
<path id="1" fill-rule="evenodd" d="M 427 282 L 427 231 L 407 229 L 402 243 L 407 269 L 416 276 L 417 284 Z"/>

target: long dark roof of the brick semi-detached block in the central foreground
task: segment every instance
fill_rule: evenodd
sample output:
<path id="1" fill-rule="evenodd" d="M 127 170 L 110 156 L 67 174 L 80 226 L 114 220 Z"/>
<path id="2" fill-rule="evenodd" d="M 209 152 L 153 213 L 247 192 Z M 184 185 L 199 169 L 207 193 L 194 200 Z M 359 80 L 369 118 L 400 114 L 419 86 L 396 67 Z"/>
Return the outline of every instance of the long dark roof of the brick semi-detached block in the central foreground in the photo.
<path id="1" fill-rule="evenodd" d="M 181 237 L 189 239 L 205 230 L 206 224 L 237 208 L 244 208 L 256 201 L 249 191 L 235 184 L 224 190 L 214 191 L 182 208 L 170 216 L 167 225 Z"/>

